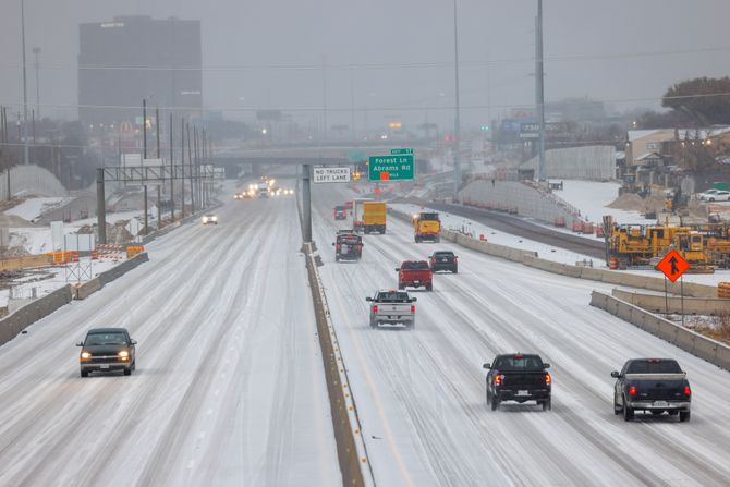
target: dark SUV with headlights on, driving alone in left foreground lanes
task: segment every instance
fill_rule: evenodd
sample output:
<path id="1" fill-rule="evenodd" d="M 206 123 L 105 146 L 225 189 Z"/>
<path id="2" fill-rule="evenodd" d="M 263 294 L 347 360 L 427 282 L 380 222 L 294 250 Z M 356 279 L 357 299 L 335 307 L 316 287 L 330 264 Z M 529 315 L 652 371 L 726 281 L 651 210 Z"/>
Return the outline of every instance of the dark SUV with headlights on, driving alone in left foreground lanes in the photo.
<path id="1" fill-rule="evenodd" d="M 81 346 L 78 363 L 81 376 L 90 372 L 123 370 L 125 376 L 136 368 L 135 346 L 125 328 L 94 328 L 86 339 L 76 343 Z"/>

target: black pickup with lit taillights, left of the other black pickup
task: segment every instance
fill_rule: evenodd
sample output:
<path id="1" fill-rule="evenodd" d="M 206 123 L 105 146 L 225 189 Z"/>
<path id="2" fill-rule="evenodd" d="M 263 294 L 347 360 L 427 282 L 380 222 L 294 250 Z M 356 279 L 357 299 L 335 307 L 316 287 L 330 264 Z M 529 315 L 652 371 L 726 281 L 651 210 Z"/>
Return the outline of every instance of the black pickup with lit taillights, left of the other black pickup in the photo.
<path id="1" fill-rule="evenodd" d="M 512 353 L 497 355 L 491 364 L 484 364 L 487 374 L 487 404 L 496 411 L 503 401 L 536 401 L 543 411 L 552 407 L 550 397 L 552 377 L 547 372 L 550 364 L 539 355 Z"/>

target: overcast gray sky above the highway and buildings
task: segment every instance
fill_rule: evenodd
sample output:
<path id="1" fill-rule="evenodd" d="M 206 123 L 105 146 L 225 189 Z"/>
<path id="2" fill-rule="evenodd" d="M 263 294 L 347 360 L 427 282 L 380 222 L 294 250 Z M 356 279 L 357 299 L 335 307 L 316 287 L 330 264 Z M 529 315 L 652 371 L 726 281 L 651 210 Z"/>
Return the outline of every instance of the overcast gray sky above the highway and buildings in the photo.
<path id="1" fill-rule="evenodd" d="M 5 105 L 22 100 L 20 2 L 2 0 L 0 15 L 0 104 Z M 480 124 L 509 107 L 534 102 L 536 3 L 458 0 L 465 124 Z M 658 107 L 657 98 L 670 84 L 730 71 L 728 0 L 544 3 L 548 101 L 587 96 L 610 101 L 616 109 Z M 353 86 L 358 108 L 397 107 L 367 118 L 360 112 L 357 124 L 377 126 L 389 119 L 419 123 L 426 117 L 441 123 L 452 120 L 451 111 L 439 109 L 453 105 L 450 0 L 25 0 L 25 7 L 32 102 L 33 47 L 42 49 L 41 65 L 49 64 L 40 72 L 41 101 L 73 106 L 80 23 L 114 15 L 174 15 L 202 21 L 204 65 L 218 68 L 204 71 L 206 107 L 321 107 L 325 60 L 332 65 L 326 75 L 328 107 L 349 109 Z M 75 117 L 75 110 L 53 107 L 45 112 Z M 234 111 L 227 115 L 242 113 L 253 117 Z M 303 122 L 316 117 L 296 112 Z M 329 117 L 332 123 L 350 121 L 349 112 Z"/>

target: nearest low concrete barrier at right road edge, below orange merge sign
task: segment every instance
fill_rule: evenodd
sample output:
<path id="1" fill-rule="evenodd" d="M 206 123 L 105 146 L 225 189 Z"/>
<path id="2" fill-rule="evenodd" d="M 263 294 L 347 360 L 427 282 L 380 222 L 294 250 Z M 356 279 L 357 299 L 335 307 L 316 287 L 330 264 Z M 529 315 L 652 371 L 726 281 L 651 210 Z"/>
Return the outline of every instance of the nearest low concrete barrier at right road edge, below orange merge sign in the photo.
<path id="1" fill-rule="evenodd" d="M 707 362 L 730 370 L 730 346 L 660 318 L 631 303 L 594 291 L 591 306 L 604 309 Z"/>

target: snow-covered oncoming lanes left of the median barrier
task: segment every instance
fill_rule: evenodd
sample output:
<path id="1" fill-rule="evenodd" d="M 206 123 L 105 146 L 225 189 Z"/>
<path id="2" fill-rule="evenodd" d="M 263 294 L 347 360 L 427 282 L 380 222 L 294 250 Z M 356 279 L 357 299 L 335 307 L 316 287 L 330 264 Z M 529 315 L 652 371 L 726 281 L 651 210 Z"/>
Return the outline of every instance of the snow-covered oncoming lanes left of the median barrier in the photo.
<path id="1" fill-rule="evenodd" d="M 293 198 L 233 202 L 0 348 L 0 485 L 339 485 Z M 92 327 L 131 377 L 78 374 Z"/>

